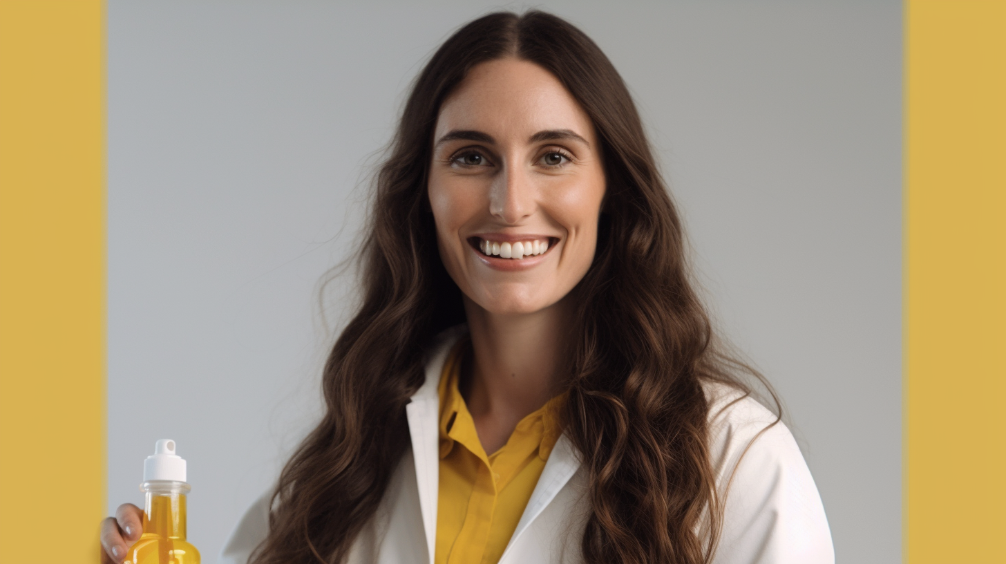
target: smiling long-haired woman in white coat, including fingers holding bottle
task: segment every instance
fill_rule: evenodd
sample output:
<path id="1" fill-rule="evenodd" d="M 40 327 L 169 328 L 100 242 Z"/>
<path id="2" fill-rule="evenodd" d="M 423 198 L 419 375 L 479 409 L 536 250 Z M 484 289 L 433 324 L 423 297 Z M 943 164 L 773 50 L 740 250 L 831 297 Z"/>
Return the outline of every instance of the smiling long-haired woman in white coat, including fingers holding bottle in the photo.
<path id="1" fill-rule="evenodd" d="M 224 562 L 833 562 L 792 435 L 716 347 L 629 92 L 569 23 L 445 42 L 361 252 L 327 413 Z"/>

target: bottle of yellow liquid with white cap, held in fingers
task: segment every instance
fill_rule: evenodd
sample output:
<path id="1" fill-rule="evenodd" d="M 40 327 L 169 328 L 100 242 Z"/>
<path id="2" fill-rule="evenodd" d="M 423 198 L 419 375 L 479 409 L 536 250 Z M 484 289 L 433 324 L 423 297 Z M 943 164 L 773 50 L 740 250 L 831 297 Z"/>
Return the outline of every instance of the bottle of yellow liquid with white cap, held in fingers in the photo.
<path id="1" fill-rule="evenodd" d="M 143 535 L 124 563 L 199 564 L 199 551 L 185 540 L 185 495 L 191 489 L 185 477 L 185 459 L 175 454 L 175 441 L 157 441 L 143 463 Z"/>

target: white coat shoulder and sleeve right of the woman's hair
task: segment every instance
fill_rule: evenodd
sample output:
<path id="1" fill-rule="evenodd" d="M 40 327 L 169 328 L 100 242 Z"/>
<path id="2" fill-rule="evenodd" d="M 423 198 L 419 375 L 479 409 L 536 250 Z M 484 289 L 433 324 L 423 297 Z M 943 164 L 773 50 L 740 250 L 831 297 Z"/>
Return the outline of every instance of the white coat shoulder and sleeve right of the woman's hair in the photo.
<path id="1" fill-rule="evenodd" d="M 832 564 L 821 497 L 789 428 L 743 392 L 703 386 L 723 503 L 716 564 Z"/>

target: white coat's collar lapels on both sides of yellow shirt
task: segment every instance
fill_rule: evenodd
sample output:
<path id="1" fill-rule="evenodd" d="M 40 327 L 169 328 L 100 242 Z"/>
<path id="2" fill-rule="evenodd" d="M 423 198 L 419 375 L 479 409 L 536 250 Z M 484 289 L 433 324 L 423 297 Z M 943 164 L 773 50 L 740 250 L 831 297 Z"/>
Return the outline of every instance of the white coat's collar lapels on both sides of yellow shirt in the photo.
<path id="1" fill-rule="evenodd" d="M 415 482 L 420 494 L 420 511 L 426 533 L 429 562 L 433 564 L 437 547 L 437 499 L 440 489 L 440 396 L 437 387 L 444 372 L 451 347 L 468 332 L 468 325 L 461 324 L 447 329 L 434 339 L 426 365 L 426 382 L 405 406 L 408 433 L 415 462 Z M 552 448 L 541 476 L 528 500 L 500 561 L 503 562 L 510 547 L 521 533 L 555 498 L 579 467 L 575 449 L 565 435 L 558 438 Z"/>

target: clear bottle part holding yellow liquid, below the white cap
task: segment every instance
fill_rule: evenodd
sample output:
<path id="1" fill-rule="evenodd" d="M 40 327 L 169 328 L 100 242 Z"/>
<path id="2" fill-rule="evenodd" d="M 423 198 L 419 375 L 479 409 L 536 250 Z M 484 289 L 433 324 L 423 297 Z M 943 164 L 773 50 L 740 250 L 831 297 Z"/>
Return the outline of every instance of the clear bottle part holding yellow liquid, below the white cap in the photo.
<path id="1" fill-rule="evenodd" d="M 199 551 L 185 540 L 188 484 L 148 481 L 143 488 L 147 496 L 143 535 L 126 553 L 124 564 L 199 564 Z"/>

